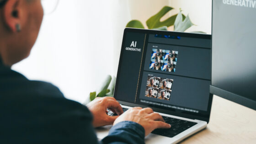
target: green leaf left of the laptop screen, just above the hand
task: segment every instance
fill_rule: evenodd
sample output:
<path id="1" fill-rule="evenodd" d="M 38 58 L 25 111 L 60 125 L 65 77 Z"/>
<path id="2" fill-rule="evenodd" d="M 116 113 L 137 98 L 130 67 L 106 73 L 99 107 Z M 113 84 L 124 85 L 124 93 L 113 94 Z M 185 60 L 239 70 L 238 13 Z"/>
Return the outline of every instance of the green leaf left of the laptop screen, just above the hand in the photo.
<path id="1" fill-rule="evenodd" d="M 84 104 L 89 103 L 90 101 L 93 101 L 96 97 L 104 97 L 104 96 L 111 96 L 113 97 L 114 94 L 114 88 L 116 83 L 116 77 L 107 75 L 106 79 L 103 81 L 101 88 L 99 90 L 91 92 L 85 100 Z"/>

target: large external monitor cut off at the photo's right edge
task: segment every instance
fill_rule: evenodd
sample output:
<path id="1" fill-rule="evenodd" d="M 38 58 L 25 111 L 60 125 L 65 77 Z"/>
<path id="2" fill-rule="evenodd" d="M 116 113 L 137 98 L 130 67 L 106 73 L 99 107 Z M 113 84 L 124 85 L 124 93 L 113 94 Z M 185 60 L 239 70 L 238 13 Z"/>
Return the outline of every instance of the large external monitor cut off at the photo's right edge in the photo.
<path id="1" fill-rule="evenodd" d="M 256 110 L 256 0 L 213 0 L 210 92 Z"/>

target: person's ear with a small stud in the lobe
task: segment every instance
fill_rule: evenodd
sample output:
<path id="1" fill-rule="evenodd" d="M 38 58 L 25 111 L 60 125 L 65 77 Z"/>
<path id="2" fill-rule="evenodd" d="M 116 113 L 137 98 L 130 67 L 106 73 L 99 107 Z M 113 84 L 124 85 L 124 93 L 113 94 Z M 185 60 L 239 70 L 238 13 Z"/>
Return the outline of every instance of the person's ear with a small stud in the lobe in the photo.
<path id="1" fill-rule="evenodd" d="M 3 13 L 5 25 L 11 32 L 18 32 L 21 28 L 21 1 L 7 0 L 3 8 Z"/>

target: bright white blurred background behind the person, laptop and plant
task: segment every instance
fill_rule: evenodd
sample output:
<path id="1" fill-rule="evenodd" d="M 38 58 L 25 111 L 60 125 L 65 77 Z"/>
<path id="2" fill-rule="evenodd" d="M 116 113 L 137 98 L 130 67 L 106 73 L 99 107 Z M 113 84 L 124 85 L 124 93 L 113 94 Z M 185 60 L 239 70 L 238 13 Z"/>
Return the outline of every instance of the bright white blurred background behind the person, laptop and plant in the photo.
<path id="1" fill-rule="evenodd" d="M 53 1 L 43 0 L 45 9 Z M 30 56 L 12 69 L 30 80 L 51 82 L 66 98 L 81 103 L 107 75 L 117 75 L 123 30 L 129 21 L 136 19 L 146 26 L 146 20 L 167 5 L 174 10 L 161 20 L 181 8 L 195 24 L 186 32 L 211 34 L 212 0 L 56 0 L 56 4 L 52 13 L 45 13 Z"/>

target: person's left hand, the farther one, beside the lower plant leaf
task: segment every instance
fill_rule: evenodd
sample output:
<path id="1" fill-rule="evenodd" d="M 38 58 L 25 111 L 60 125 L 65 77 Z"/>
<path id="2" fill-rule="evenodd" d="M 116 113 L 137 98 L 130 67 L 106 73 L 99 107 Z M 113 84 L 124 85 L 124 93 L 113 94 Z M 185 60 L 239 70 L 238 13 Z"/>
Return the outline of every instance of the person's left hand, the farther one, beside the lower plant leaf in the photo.
<path id="1" fill-rule="evenodd" d="M 113 97 L 96 97 L 93 101 L 86 105 L 93 115 L 92 125 L 101 127 L 105 125 L 113 124 L 118 116 L 107 115 L 107 108 L 112 112 L 121 115 L 123 109 L 119 102 Z"/>

